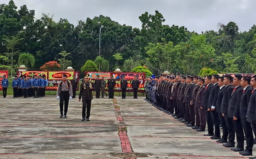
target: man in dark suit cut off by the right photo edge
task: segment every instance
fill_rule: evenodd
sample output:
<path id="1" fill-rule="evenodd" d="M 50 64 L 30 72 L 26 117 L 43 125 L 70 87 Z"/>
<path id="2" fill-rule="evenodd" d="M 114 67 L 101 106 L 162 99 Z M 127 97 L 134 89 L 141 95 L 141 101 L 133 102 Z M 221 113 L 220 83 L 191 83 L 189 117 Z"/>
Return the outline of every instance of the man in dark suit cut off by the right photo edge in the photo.
<path id="1" fill-rule="evenodd" d="M 250 102 L 247 110 L 247 121 L 251 124 L 252 130 L 256 132 L 256 75 L 252 76 L 250 85 L 253 88 L 251 92 Z M 250 159 L 256 159 L 255 157 L 250 157 Z"/>

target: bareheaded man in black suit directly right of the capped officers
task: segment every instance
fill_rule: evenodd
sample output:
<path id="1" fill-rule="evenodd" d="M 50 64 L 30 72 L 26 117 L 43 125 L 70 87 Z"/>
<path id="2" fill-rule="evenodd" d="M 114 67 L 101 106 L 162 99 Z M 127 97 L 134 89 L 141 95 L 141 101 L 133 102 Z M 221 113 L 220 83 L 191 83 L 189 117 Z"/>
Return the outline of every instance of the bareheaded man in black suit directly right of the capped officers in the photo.
<path id="1" fill-rule="evenodd" d="M 205 111 L 206 114 L 206 122 L 207 122 L 207 128 L 208 128 L 208 134 L 204 134 L 204 136 L 213 136 L 213 120 L 212 120 L 212 115 L 211 115 L 211 110 L 208 109 L 208 105 L 209 105 L 209 97 L 210 97 L 210 93 L 212 91 L 213 88 L 213 84 L 211 83 L 211 79 L 212 76 L 208 75 L 205 78 L 205 84 L 206 84 L 206 88 L 205 88 L 205 94 L 204 94 L 204 98 L 203 98 L 203 110 Z"/>

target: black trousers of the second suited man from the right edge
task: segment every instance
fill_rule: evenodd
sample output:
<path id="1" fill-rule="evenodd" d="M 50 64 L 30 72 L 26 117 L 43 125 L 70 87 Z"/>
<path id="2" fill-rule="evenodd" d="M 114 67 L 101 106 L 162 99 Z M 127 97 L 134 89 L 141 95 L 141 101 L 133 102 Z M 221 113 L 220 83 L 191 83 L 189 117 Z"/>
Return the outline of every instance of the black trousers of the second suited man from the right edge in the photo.
<path id="1" fill-rule="evenodd" d="M 244 134 L 246 138 L 246 149 L 252 152 L 252 147 L 253 147 L 253 133 L 252 133 L 252 128 L 251 124 L 245 119 L 241 119 L 243 129 L 244 129 Z"/>

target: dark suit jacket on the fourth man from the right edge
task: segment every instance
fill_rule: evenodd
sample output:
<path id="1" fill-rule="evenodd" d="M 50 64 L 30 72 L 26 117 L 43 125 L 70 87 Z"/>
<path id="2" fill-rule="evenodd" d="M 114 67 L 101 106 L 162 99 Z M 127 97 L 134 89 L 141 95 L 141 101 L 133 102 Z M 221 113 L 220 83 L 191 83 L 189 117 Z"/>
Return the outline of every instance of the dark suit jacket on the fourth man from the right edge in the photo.
<path id="1" fill-rule="evenodd" d="M 220 108 L 220 113 L 222 114 L 228 114 L 228 104 L 230 101 L 230 97 L 233 91 L 233 87 L 231 84 L 227 85 L 224 93 L 223 93 L 223 98 L 221 102 L 221 108 Z"/>

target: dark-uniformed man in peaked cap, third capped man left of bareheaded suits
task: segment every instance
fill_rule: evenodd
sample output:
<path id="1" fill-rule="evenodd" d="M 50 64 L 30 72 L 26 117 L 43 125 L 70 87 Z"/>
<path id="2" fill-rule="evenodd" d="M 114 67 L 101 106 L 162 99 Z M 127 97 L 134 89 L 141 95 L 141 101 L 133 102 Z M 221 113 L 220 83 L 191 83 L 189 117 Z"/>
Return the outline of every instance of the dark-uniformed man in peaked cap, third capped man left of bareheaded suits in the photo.
<path id="1" fill-rule="evenodd" d="M 192 94 L 195 88 L 195 84 L 193 83 L 193 78 L 194 76 L 187 75 L 187 79 L 186 79 L 187 86 L 184 93 L 184 102 L 186 107 L 185 110 L 188 110 L 187 119 L 189 119 L 188 120 L 189 124 L 187 124 L 187 126 L 189 127 L 195 126 L 195 105 L 190 105 Z"/>

